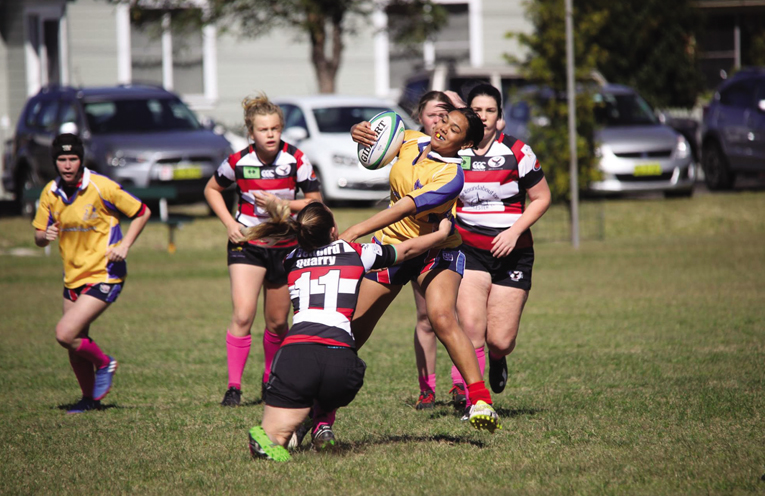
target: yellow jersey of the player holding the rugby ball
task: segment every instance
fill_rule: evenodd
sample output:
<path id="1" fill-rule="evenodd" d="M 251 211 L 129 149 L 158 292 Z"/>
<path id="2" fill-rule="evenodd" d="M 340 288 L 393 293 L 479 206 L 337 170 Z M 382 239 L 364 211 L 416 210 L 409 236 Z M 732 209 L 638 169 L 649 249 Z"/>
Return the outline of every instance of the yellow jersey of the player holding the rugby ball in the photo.
<path id="1" fill-rule="evenodd" d="M 453 217 L 465 175 L 462 158 L 442 157 L 434 151 L 416 163 L 430 144 L 430 136 L 419 131 L 406 131 L 398 160 L 390 171 L 390 204 L 408 196 L 417 212 L 379 231 L 374 236 L 382 244 L 398 244 L 407 239 L 438 230 L 444 217 Z M 456 248 L 462 238 L 456 229 L 435 249 Z"/>

